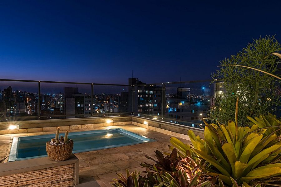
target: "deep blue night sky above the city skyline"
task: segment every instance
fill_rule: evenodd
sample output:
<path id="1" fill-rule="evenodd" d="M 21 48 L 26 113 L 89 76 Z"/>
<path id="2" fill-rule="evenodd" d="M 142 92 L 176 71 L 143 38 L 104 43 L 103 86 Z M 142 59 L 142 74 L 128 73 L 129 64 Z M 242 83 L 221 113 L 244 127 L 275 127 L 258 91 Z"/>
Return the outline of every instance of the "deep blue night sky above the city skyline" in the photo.
<path id="1" fill-rule="evenodd" d="M 127 84 L 210 79 L 281 1 L 1 1 L 0 78 Z"/>

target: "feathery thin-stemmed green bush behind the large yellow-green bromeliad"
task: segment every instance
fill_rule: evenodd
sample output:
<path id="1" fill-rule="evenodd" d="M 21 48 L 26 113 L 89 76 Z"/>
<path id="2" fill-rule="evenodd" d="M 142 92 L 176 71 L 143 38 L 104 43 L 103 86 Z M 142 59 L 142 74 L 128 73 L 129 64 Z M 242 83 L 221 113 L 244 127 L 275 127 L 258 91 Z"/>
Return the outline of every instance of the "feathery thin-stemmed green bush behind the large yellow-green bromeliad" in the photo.
<path id="1" fill-rule="evenodd" d="M 277 84 L 280 75 L 276 74 L 280 70 L 279 51 L 280 43 L 274 36 L 267 36 L 254 40 L 236 55 L 220 61 L 219 70 L 211 75 L 214 82 L 223 87 L 223 92 L 217 95 L 216 106 L 211 109 L 213 122 L 226 124 L 229 119 L 234 120 L 237 97 L 239 126 L 248 125 L 247 116 L 280 109 L 280 84 Z"/>

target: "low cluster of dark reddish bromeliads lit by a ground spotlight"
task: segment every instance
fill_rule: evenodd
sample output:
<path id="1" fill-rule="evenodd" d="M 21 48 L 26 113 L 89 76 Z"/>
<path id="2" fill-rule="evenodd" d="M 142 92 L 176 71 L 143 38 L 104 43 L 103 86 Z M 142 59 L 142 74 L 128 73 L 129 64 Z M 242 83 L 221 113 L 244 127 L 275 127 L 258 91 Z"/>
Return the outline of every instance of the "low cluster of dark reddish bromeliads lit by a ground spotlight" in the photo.
<path id="1" fill-rule="evenodd" d="M 176 148 L 166 157 L 156 150 L 155 156 L 157 160 L 146 156 L 146 158 L 155 161 L 154 165 L 141 164 L 142 167 L 146 168 L 144 177 L 136 170 L 132 173 L 126 170 L 126 177 L 117 173 L 119 179 L 113 179 L 111 184 L 116 187 L 200 187 L 212 185 L 211 181 L 207 181 L 210 177 L 205 178 L 190 157 L 178 157 Z"/>

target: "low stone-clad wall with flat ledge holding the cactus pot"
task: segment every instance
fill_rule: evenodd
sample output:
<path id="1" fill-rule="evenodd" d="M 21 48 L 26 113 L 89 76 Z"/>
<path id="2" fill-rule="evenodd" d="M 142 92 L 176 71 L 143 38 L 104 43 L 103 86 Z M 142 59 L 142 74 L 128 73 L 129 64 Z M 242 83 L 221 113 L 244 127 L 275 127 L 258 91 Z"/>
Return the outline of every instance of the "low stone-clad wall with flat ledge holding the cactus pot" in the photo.
<path id="1" fill-rule="evenodd" d="M 50 161 L 48 157 L 3 163 L 0 186 L 73 186 L 79 181 L 79 159 Z"/>

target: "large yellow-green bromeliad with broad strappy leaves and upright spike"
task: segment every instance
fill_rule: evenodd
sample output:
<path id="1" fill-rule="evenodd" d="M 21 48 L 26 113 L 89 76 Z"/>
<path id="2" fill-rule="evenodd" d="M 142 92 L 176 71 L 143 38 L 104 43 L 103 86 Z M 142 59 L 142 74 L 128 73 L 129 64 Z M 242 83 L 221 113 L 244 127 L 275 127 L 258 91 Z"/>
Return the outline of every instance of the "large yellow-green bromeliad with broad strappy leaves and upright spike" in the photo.
<path id="1" fill-rule="evenodd" d="M 280 137 L 275 133 L 265 134 L 267 129 L 259 129 L 256 124 L 251 128 L 238 127 L 237 110 L 238 98 L 235 122 L 216 125 L 204 121 L 204 139 L 196 137 L 191 130 L 188 132 L 196 155 L 209 163 L 202 170 L 207 175 L 219 176 L 227 185 L 233 184 L 231 178 L 244 186 L 254 183 L 253 180 L 263 183 L 272 177 L 281 180 Z"/>

